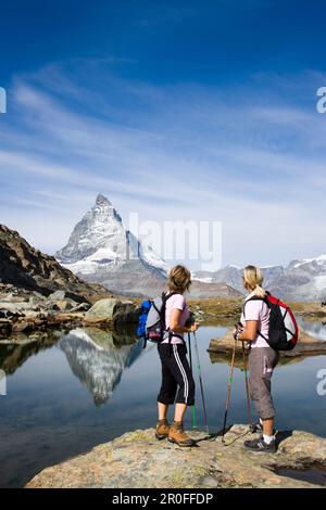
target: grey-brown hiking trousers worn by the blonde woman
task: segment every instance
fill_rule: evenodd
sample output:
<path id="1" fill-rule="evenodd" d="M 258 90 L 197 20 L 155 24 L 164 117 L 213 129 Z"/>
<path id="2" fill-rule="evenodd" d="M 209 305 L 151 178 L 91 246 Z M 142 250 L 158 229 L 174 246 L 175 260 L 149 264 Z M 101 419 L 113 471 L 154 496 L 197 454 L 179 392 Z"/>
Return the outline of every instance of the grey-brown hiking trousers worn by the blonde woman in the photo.
<path id="1" fill-rule="evenodd" d="M 254 347 L 249 352 L 249 390 L 255 410 L 262 420 L 276 412 L 271 393 L 271 378 L 279 355 L 272 347 Z"/>

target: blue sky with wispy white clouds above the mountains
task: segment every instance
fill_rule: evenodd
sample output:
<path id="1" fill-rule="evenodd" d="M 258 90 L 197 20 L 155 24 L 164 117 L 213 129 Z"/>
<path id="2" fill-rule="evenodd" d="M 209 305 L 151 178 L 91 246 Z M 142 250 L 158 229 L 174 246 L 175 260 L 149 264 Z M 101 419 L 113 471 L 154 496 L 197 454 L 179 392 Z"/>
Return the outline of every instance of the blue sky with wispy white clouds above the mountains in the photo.
<path id="1" fill-rule="evenodd" d="M 123 217 L 223 221 L 224 265 L 325 253 L 325 7 L 2 5 L 0 221 L 53 253 L 102 192 Z"/>

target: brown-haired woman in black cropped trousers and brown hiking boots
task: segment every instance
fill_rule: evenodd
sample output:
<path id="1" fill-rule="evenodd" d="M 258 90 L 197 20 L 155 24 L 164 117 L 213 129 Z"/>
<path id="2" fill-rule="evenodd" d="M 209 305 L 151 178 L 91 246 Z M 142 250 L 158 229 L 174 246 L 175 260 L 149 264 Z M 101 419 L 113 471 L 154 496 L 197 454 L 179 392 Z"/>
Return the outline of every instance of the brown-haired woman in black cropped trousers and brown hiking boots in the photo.
<path id="1" fill-rule="evenodd" d="M 171 339 L 158 345 L 162 364 L 162 385 L 158 395 L 159 421 L 155 436 L 168 438 L 179 446 L 193 446 L 193 441 L 184 431 L 184 416 L 187 406 L 195 405 L 195 381 L 187 359 L 187 347 L 184 333 L 197 331 L 198 322 L 187 327 L 190 314 L 184 294 L 191 284 L 190 271 L 184 266 L 175 266 L 168 276 L 168 294 L 166 301 L 165 324 Z M 168 295 L 167 294 L 167 295 Z M 167 422 L 168 406 L 175 403 L 174 422 Z"/>

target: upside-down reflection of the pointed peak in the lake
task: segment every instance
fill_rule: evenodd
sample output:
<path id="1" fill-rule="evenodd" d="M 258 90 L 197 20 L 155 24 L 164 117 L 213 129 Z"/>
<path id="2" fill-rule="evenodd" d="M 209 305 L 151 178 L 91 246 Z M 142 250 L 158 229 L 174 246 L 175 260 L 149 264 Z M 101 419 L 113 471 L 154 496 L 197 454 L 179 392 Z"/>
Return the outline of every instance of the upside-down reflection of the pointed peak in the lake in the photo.
<path id="1" fill-rule="evenodd" d="M 126 345 L 117 346 L 124 343 Z M 97 328 L 71 331 L 60 341 L 60 347 L 73 373 L 92 394 L 97 406 L 110 398 L 124 368 L 130 367 L 142 352 L 141 343 L 135 343 L 127 334 Z"/>

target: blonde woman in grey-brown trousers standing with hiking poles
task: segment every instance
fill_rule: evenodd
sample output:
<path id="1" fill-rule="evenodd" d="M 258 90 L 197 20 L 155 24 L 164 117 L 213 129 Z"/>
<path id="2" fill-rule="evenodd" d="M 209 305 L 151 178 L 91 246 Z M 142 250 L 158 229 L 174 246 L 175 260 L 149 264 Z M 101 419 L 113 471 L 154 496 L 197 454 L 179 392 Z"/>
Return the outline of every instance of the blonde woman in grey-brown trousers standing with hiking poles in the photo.
<path id="1" fill-rule="evenodd" d="M 271 378 L 278 362 L 278 353 L 267 343 L 271 311 L 264 302 L 266 291 L 262 288 L 261 270 L 247 266 L 242 279 L 249 295 L 244 299 L 242 328 L 235 331 L 235 339 L 249 343 L 250 396 L 260 417 L 260 428 L 263 430 L 259 439 L 246 441 L 244 446 L 252 451 L 275 452 L 275 408 L 271 394 Z"/>

